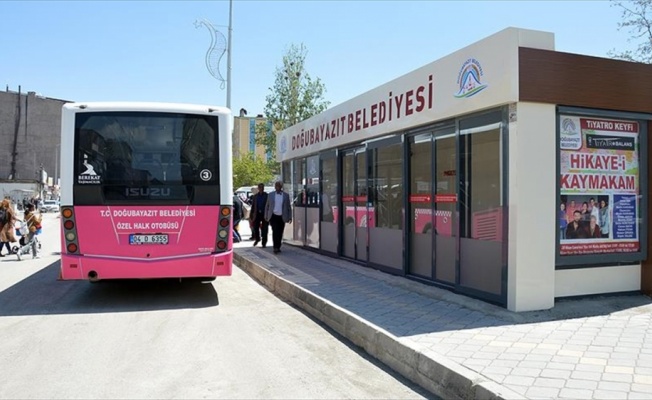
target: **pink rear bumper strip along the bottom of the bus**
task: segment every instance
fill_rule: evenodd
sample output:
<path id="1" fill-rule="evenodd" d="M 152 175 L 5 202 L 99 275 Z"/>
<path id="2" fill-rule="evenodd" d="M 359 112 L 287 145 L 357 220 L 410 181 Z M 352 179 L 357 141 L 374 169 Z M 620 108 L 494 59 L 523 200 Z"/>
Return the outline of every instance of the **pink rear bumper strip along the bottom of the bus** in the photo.
<path id="1" fill-rule="evenodd" d="M 231 276 L 233 252 L 167 260 L 61 255 L 62 280 L 213 278 Z"/>

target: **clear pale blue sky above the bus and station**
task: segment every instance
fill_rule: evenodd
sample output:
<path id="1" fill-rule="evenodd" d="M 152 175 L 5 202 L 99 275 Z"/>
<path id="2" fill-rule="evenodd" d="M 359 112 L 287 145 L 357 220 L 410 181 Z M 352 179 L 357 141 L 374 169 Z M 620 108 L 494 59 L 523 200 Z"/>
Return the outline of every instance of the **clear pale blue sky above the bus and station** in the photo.
<path id="1" fill-rule="evenodd" d="M 262 114 L 291 44 L 335 106 L 507 27 L 553 32 L 557 51 L 633 49 L 610 1 L 233 0 L 231 108 Z M 70 101 L 227 104 L 205 55 L 229 1 L 0 1 L 0 90 Z M 227 55 L 219 66 L 227 76 Z"/>

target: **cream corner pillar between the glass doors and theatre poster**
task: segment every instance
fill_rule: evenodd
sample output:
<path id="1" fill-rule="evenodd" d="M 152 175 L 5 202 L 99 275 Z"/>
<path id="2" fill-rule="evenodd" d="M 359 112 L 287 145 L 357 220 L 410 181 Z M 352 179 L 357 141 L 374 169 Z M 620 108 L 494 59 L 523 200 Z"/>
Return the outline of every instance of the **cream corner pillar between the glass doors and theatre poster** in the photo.
<path id="1" fill-rule="evenodd" d="M 555 304 L 555 106 L 510 111 L 507 308 L 543 310 Z"/>

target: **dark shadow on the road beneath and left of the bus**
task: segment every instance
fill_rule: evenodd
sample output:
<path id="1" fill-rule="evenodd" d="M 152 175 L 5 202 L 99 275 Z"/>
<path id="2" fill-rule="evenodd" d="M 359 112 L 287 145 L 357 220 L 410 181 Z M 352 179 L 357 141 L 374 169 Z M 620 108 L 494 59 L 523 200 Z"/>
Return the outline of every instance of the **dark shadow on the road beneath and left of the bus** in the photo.
<path id="1" fill-rule="evenodd" d="M 219 305 L 210 283 L 175 279 L 58 281 L 60 261 L 0 292 L 0 317 L 205 308 Z"/>

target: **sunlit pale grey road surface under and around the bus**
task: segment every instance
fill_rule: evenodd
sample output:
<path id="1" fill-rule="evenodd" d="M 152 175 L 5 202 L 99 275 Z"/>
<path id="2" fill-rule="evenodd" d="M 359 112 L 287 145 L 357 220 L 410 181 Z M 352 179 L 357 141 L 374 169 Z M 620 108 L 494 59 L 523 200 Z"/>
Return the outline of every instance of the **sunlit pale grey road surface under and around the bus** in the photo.
<path id="1" fill-rule="evenodd" d="M 0 259 L 0 398 L 423 398 L 238 268 L 213 283 L 57 281 Z"/>

